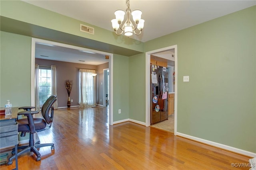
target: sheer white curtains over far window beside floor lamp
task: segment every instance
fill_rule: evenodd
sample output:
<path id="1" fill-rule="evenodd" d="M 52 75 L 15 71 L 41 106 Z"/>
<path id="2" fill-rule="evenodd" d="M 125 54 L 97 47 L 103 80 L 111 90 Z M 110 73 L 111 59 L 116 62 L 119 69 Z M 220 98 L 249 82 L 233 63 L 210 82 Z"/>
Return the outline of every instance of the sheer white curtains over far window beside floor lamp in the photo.
<path id="1" fill-rule="evenodd" d="M 95 70 L 79 69 L 80 80 L 80 105 L 79 107 L 87 107 L 94 105 L 94 78 L 92 73 Z M 96 98 L 96 96 L 95 96 Z"/>

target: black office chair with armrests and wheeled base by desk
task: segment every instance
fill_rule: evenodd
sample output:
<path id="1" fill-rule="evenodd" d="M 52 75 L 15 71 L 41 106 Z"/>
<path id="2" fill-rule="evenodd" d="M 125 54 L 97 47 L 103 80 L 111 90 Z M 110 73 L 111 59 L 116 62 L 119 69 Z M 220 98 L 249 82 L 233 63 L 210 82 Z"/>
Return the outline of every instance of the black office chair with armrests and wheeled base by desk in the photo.
<path id="1" fill-rule="evenodd" d="M 49 129 L 52 126 L 53 121 L 53 114 L 54 114 L 54 108 L 52 107 L 52 104 L 56 101 L 56 96 L 50 96 L 44 105 L 42 106 L 41 112 L 42 118 L 34 118 L 33 114 L 39 113 L 39 111 L 31 111 L 31 109 L 34 109 L 35 107 L 19 107 L 19 109 L 24 109 L 26 111 L 20 111 L 18 115 L 25 115 L 27 116 L 27 119 L 19 119 L 18 121 L 18 131 L 21 132 L 20 136 L 24 137 L 26 135 L 26 132 L 29 132 L 29 145 L 26 146 L 19 146 L 18 150 L 22 149 L 20 152 L 18 152 L 18 156 L 25 152 L 34 152 L 36 154 L 37 158 L 36 161 L 41 160 L 41 154 L 37 150 L 41 147 L 47 147 L 51 146 L 51 149 L 54 149 L 53 143 L 43 143 L 43 144 L 37 144 L 34 143 L 34 133 L 44 131 L 46 129 Z M 46 125 L 48 126 L 46 127 Z M 12 154 L 15 153 L 15 150 L 12 150 Z M 12 160 L 15 158 L 15 155 L 8 158 L 8 165 L 12 164 Z"/>

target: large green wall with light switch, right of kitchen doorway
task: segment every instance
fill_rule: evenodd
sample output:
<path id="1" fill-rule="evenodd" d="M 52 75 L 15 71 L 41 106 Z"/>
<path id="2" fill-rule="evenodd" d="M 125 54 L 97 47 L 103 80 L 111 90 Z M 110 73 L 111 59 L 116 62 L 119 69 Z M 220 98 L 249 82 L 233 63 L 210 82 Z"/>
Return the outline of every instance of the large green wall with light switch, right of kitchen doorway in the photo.
<path id="1" fill-rule="evenodd" d="M 177 131 L 256 152 L 256 6 L 148 41 L 145 51 L 171 45 Z"/>

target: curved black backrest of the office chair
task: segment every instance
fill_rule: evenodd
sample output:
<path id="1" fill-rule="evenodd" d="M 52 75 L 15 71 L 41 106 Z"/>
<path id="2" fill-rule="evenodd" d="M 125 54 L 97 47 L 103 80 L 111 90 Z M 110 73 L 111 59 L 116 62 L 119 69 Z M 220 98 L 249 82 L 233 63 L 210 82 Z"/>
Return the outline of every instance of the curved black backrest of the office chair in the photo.
<path id="1" fill-rule="evenodd" d="M 42 109 L 41 109 L 42 116 L 44 117 L 44 120 L 46 121 L 47 124 L 50 124 L 53 121 L 54 109 L 53 108 L 51 109 L 51 107 L 56 100 L 57 100 L 57 97 L 52 95 L 44 102 L 44 105 L 42 106 Z M 50 109 L 51 109 L 51 115 L 49 115 Z"/>

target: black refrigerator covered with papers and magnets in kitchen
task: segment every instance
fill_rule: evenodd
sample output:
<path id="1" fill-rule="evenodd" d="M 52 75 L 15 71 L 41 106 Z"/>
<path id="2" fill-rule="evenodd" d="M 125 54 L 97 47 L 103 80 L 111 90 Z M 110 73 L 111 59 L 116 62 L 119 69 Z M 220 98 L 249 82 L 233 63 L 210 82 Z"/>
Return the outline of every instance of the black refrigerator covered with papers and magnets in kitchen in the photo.
<path id="1" fill-rule="evenodd" d="M 168 119 L 168 68 L 151 67 L 151 122 L 153 125 Z"/>

